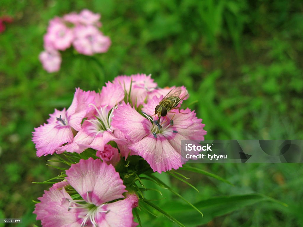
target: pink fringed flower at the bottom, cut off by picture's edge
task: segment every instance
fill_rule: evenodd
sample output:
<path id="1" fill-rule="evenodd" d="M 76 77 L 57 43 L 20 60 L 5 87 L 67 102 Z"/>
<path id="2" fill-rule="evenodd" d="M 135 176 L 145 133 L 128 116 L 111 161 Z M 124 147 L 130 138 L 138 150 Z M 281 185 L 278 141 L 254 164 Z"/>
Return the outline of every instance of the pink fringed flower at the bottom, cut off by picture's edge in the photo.
<path id="1" fill-rule="evenodd" d="M 64 188 L 45 191 L 34 211 L 43 226 L 132 226 L 132 203 L 127 199 L 111 202 L 126 192 L 112 165 L 89 158 L 73 164 L 66 174 L 82 199 L 73 200 Z"/>

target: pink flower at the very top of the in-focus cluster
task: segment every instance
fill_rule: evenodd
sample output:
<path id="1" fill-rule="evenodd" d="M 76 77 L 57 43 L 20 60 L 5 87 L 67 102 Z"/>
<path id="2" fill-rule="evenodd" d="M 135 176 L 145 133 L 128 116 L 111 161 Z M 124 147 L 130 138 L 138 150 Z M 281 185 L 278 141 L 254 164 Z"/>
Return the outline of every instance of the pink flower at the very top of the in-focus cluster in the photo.
<path id="1" fill-rule="evenodd" d="M 126 93 L 129 94 L 131 88 L 130 100 L 132 104 L 137 103 L 137 107 L 148 99 L 148 95 L 157 87 L 157 83 L 151 79 L 151 75 L 136 74 L 131 76 L 118 76 L 113 81 L 114 84 L 121 84 Z"/>

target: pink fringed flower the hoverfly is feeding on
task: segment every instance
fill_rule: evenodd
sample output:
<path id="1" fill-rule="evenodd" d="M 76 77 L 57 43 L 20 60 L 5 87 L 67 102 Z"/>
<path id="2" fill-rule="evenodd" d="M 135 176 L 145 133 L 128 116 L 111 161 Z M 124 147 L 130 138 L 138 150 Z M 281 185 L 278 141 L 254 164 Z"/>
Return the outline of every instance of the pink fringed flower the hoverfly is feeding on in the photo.
<path id="1" fill-rule="evenodd" d="M 159 104 L 162 97 L 149 100 L 144 107 L 151 109 Z M 152 115 L 151 110 L 143 108 L 142 111 Z M 151 168 L 159 173 L 171 169 L 178 169 L 186 161 L 181 157 L 181 140 L 204 140 L 206 131 L 201 119 L 196 117 L 194 111 L 171 110 L 162 121 L 161 128 L 139 114 L 129 104 L 123 103 L 114 111 L 112 126 L 125 134 L 129 141 L 128 148 L 142 156 Z M 174 116 L 174 117 L 173 117 Z M 173 117 L 173 126 L 170 119 Z M 198 151 L 192 154 L 198 154 Z"/>

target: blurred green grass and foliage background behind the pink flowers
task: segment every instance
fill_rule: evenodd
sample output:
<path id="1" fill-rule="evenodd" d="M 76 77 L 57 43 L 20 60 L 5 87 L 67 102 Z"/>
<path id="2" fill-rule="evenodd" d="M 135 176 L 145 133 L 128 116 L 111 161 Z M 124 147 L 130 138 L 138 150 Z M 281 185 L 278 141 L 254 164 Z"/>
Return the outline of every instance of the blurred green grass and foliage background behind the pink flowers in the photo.
<path id="1" fill-rule="evenodd" d="M 38 55 L 48 21 L 83 8 L 102 15 L 101 30 L 112 40 L 107 53 L 95 55 L 103 70 L 91 57 L 65 51 L 60 71 L 47 73 Z M 303 139 L 302 1 L 2 0 L 3 15 L 14 22 L 0 34 L 0 218 L 23 219 L 14 226 L 40 225 L 32 200 L 50 186 L 30 182 L 58 172 L 45 166 L 53 157 L 35 157 L 31 132 L 54 108 L 71 104 L 75 87 L 98 90 L 117 75 L 152 74 L 160 87 L 188 88 L 185 104 L 203 118 L 205 139 Z M 213 213 L 203 225 L 184 220 L 186 226 L 303 226 L 301 164 L 196 167 L 235 186 L 192 174 L 198 193 L 161 177 L 191 202 L 258 192 L 289 206 L 259 202 Z M 169 213 L 168 199 L 158 204 Z M 175 226 L 159 213 L 141 213 L 143 226 Z"/>

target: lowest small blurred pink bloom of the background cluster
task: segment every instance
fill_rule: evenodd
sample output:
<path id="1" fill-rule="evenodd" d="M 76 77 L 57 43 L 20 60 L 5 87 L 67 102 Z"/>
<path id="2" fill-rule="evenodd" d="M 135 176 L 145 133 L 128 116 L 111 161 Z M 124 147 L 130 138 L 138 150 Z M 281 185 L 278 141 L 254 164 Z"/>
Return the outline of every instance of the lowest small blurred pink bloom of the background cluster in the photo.
<path id="1" fill-rule="evenodd" d="M 43 51 L 39 55 L 43 68 L 49 73 L 57 72 L 61 65 L 61 54 L 58 51 Z"/>

